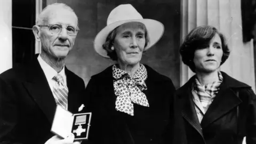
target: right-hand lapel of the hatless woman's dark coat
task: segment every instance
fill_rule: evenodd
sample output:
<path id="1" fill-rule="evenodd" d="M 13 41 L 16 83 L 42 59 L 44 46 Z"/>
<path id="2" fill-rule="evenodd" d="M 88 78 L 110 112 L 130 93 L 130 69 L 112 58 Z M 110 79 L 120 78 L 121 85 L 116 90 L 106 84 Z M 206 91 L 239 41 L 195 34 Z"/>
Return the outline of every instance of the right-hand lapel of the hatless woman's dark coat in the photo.
<path id="1" fill-rule="evenodd" d="M 225 82 L 223 82 L 220 85 L 219 93 L 202 119 L 202 128 L 204 129 L 223 115 L 227 114 L 231 109 L 237 107 L 241 102 L 242 101 L 237 97 L 233 90 L 231 90 L 231 88 L 228 87 Z"/>

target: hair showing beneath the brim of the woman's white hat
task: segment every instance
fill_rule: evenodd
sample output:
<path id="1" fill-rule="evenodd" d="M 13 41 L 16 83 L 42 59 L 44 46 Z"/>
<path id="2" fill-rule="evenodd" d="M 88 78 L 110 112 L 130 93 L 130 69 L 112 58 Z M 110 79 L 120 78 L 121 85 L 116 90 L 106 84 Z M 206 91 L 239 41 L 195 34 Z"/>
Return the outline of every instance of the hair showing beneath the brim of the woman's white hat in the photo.
<path id="1" fill-rule="evenodd" d="M 148 45 L 148 42 L 149 42 L 148 31 L 147 31 L 146 26 L 143 23 L 141 23 L 141 22 L 138 22 L 138 23 L 139 23 L 139 26 L 141 26 L 142 29 L 145 30 L 145 38 L 146 38 L 145 47 L 146 47 Z M 120 27 L 120 26 L 118 26 L 118 27 Z M 108 57 L 111 60 L 114 60 L 114 61 L 117 61 L 118 58 L 117 58 L 116 51 L 115 50 L 111 50 L 111 47 L 114 45 L 114 41 L 115 41 L 115 37 L 116 37 L 116 30 L 117 30 L 118 27 L 116 27 L 114 30 L 112 30 L 108 34 L 108 36 L 106 38 L 106 42 L 102 45 L 103 49 L 107 51 Z"/>

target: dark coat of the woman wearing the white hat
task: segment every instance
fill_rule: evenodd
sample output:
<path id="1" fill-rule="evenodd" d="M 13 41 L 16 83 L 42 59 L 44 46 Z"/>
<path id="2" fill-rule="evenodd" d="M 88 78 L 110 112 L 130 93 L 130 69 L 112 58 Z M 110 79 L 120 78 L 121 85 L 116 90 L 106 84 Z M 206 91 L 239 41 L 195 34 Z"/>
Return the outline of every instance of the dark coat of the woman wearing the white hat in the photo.
<path id="1" fill-rule="evenodd" d="M 149 107 L 134 105 L 134 116 L 115 109 L 112 66 L 91 77 L 86 102 L 92 111 L 89 140 L 93 143 L 164 143 L 174 85 L 170 78 L 146 66 Z M 169 137 L 169 135 L 168 135 Z"/>

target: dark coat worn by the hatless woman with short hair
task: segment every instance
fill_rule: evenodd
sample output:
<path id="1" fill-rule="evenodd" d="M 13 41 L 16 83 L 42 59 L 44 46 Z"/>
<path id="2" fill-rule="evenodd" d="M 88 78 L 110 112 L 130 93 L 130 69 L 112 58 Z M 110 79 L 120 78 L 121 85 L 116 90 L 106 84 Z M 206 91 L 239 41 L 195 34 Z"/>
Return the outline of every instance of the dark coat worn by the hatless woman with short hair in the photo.
<path id="1" fill-rule="evenodd" d="M 198 121 L 191 85 L 195 76 L 177 90 L 180 117 L 175 117 L 179 143 L 239 143 L 246 137 L 247 144 L 256 143 L 256 95 L 247 84 L 221 72 L 220 90 L 201 124 Z M 239 110 L 238 110 L 239 109 Z M 180 135 L 180 136 L 179 136 Z"/>

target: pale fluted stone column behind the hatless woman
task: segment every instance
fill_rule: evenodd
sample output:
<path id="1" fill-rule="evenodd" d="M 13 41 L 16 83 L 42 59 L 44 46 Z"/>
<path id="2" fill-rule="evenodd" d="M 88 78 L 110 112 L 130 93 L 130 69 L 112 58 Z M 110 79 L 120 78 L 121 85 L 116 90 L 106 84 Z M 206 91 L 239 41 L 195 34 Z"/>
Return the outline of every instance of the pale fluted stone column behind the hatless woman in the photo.
<path id="1" fill-rule="evenodd" d="M 211 25 L 226 36 L 231 54 L 221 66 L 231 77 L 255 90 L 253 44 L 243 43 L 241 0 L 182 0 L 181 41 L 197 26 Z M 181 61 L 181 85 L 194 73 Z"/>

